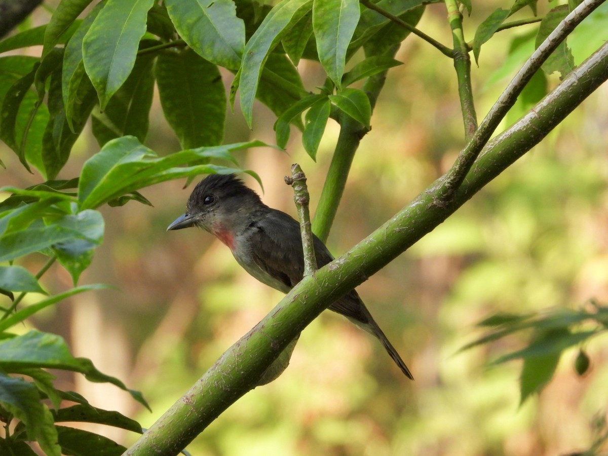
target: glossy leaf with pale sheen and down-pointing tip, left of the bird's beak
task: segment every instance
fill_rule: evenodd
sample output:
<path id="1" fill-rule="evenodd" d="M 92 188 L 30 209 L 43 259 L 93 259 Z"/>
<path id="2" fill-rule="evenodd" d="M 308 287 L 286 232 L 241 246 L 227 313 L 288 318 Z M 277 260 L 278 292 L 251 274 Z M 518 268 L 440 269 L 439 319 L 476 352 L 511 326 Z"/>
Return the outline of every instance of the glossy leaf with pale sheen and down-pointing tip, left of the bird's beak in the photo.
<path id="1" fill-rule="evenodd" d="M 54 224 L 74 230 L 82 237 L 52 246 L 57 259 L 70 273 L 76 285 L 80 274 L 91 264 L 93 250 L 103 241 L 103 216 L 96 210 L 87 209 L 77 215 L 64 215 L 55 220 Z"/>

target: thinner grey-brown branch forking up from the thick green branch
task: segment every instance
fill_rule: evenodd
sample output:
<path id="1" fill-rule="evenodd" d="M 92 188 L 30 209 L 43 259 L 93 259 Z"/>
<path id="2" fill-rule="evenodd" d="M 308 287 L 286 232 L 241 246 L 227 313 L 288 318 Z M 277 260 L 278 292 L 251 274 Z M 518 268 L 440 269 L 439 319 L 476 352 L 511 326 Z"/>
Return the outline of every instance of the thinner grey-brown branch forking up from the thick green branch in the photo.
<path id="1" fill-rule="evenodd" d="M 477 128 L 477 131 L 475 131 L 466 147 L 458 154 L 456 162 L 444 178 L 446 185 L 441 185 L 437 190 L 437 195 L 435 195 L 436 204 L 444 206 L 449 202 L 454 192 L 464 181 L 466 174 L 471 169 L 480 151 L 486 145 L 500 121 L 515 104 L 517 96 L 522 92 L 534 73 L 541 68 L 545 60 L 551 55 L 551 52 L 565 40 L 566 36 L 578 26 L 582 19 L 589 16 L 603 2 L 604 0 L 584 0 L 555 27 L 555 30 L 547 36 L 541 46 L 537 47 L 513 80 L 511 80 L 505 91 L 496 100 L 496 103 L 494 103 L 494 106 L 492 106 L 486 117 L 482 120 L 482 123 L 480 123 L 479 128 Z"/>

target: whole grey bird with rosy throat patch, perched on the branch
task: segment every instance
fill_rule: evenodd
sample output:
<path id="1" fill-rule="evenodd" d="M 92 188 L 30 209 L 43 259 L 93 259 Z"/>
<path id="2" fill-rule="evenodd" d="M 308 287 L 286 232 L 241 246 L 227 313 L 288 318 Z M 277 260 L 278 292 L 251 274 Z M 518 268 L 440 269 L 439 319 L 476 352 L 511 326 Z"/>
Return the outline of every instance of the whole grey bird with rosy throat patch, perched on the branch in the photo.
<path id="1" fill-rule="evenodd" d="M 204 228 L 215 235 L 230 248 L 238 264 L 272 288 L 287 293 L 302 280 L 304 254 L 300 224 L 285 212 L 266 206 L 260 196 L 234 174 L 210 174 L 202 179 L 188 198 L 186 213 L 167 230 L 190 226 Z M 317 266 L 321 268 L 333 257 L 325 244 L 313 237 Z M 401 356 L 356 291 L 348 292 L 328 308 L 378 337 L 393 361 L 413 380 Z"/>

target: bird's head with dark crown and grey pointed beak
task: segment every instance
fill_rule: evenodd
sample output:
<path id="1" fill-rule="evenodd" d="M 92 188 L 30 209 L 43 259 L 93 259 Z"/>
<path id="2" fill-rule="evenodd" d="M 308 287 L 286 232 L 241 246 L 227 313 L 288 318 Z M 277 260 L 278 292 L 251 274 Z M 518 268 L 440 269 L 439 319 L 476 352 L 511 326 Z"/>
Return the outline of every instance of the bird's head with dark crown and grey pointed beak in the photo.
<path id="1" fill-rule="evenodd" d="M 176 218 L 167 230 L 198 226 L 220 239 L 226 233 L 233 236 L 251 223 L 251 215 L 261 204 L 260 196 L 235 174 L 210 174 L 192 191 L 186 213 Z"/>

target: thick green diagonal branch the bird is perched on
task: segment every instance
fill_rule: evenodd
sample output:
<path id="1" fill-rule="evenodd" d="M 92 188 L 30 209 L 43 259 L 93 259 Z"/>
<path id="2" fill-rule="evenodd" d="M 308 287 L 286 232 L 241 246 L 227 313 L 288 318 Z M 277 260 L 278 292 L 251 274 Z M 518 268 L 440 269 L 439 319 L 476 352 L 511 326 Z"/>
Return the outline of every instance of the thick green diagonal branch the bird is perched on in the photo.
<path id="1" fill-rule="evenodd" d="M 211 367 L 125 455 L 176 455 L 233 402 L 254 388 L 289 342 L 333 302 L 442 223 L 489 181 L 539 143 L 608 79 L 608 44 L 562 81 L 527 116 L 483 150 L 449 204 L 435 204 L 438 179 L 346 254 L 303 278 Z"/>

